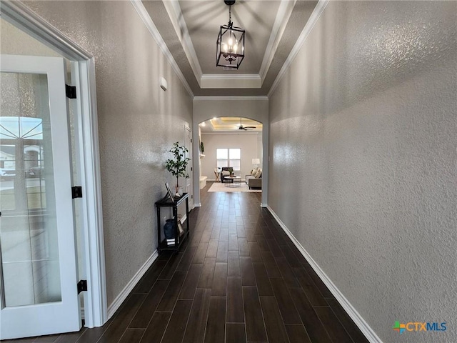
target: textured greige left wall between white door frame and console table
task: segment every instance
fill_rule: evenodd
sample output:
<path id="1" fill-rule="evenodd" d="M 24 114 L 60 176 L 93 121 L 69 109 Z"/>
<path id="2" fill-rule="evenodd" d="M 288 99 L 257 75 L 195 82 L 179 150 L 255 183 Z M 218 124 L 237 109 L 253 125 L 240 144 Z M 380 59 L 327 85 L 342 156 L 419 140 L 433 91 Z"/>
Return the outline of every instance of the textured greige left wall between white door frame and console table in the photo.
<path id="1" fill-rule="evenodd" d="M 95 56 L 108 304 L 156 249 L 154 202 L 192 100 L 130 1 L 27 1 Z M 164 76 L 168 91 L 159 87 Z"/>

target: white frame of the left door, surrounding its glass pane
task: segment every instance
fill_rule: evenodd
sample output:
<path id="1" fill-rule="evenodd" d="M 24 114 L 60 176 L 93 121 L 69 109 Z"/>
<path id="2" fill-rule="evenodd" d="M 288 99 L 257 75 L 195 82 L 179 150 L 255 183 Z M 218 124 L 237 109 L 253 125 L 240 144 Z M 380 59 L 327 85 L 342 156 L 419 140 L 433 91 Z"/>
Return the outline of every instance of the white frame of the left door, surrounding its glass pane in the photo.
<path id="1" fill-rule="evenodd" d="M 1 71 L 13 73 L 45 74 L 49 101 L 48 118 L 51 135 L 43 135 L 43 142 L 48 141 L 52 149 L 54 163 L 54 187 L 47 192 L 54 198 L 54 224 L 57 235 L 49 237 L 55 240 L 56 264 L 59 277 L 53 289 L 60 289 L 59 302 L 44 304 L 26 304 L 26 306 L 0 306 L 0 339 L 41 336 L 57 332 L 74 332 L 81 329 L 79 297 L 76 292 L 77 264 L 76 237 L 74 235 L 74 202 L 71 199 L 71 151 L 69 145 L 69 121 L 66 116 L 68 105 L 65 97 L 66 65 L 62 57 L 1 55 Z M 50 139 L 50 140 L 49 140 Z M 47 182 L 47 179 L 46 179 Z M 46 189 L 47 190 L 47 189 Z M 49 243 L 48 243 L 49 244 Z M 49 254 L 52 254 L 49 252 Z M 51 273 L 54 276 L 54 273 Z M 3 294 L 2 294 L 3 296 Z M 29 323 L 24 326 L 25 323 Z"/>

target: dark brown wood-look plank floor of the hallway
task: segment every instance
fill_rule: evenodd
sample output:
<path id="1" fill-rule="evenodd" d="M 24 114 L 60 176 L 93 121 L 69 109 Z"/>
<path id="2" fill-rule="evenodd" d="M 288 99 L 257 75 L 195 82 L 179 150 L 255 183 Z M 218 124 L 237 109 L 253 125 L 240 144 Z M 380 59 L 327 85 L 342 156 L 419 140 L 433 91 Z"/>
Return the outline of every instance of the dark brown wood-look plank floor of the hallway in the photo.
<path id="1" fill-rule="evenodd" d="M 9 342 L 368 342 L 261 193 L 209 187 L 180 252 L 161 254 L 103 327 Z"/>

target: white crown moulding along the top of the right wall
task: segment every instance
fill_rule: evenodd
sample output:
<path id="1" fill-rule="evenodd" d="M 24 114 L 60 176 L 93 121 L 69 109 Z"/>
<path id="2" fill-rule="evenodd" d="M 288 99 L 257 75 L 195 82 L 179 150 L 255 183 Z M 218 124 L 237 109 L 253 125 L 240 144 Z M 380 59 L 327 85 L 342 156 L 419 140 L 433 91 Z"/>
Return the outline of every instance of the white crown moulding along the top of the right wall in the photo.
<path id="1" fill-rule="evenodd" d="M 300 36 L 298 36 L 298 39 L 293 46 L 291 53 L 288 55 L 286 61 L 284 62 L 281 70 L 279 71 L 278 75 L 276 76 L 276 79 L 273 81 L 273 84 L 271 85 L 270 90 L 268 91 L 268 98 L 271 97 L 273 92 L 275 91 L 276 87 L 278 86 L 279 82 L 283 78 L 284 74 L 286 74 L 287 69 L 289 66 L 291 66 L 293 59 L 298 54 L 298 51 L 300 51 L 301 46 L 305 43 L 306 39 L 308 38 L 308 35 L 311 33 L 311 30 L 313 29 L 314 25 L 316 25 L 316 22 L 320 18 L 321 14 L 323 13 L 323 10 L 326 8 L 328 2 L 330 0 L 319 0 L 318 4 L 313 10 L 313 13 L 311 13 L 311 16 L 309 17 L 308 21 L 306 22 L 305 27 L 303 28 L 303 31 L 301 31 Z"/>

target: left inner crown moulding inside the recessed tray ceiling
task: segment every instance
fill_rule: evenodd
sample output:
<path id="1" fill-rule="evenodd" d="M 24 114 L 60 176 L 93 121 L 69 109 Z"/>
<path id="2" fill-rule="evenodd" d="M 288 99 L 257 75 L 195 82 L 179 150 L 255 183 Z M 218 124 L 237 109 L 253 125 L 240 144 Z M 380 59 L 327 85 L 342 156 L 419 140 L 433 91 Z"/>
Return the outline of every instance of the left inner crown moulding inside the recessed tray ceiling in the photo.
<path id="1" fill-rule="evenodd" d="M 184 16 L 181 12 L 181 6 L 179 6 L 178 0 L 167 0 L 163 1 L 166 12 L 169 14 L 171 24 L 176 31 L 179 41 L 181 41 L 181 46 L 184 49 L 184 53 L 189 60 L 192 71 L 196 80 L 200 84 L 200 79 L 203 74 L 201 71 L 201 66 L 199 64 L 199 59 L 192 43 L 191 36 L 189 35 L 189 29 L 187 29 L 186 21 L 184 21 Z"/>

